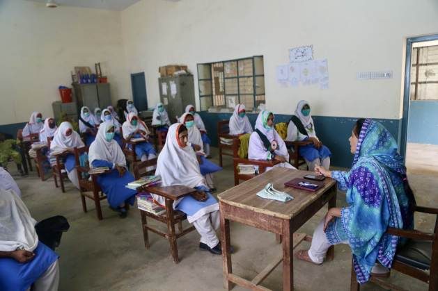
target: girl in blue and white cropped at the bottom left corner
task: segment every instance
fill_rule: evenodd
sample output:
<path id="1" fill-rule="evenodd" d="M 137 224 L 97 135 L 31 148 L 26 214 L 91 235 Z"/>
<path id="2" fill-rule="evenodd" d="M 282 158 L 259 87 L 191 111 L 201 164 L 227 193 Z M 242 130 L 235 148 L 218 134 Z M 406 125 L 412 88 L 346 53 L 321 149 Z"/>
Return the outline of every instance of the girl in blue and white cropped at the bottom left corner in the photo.
<path id="1" fill-rule="evenodd" d="M 0 190 L 0 220 L 0 290 L 58 290 L 58 255 L 38 241 L 36 221 L 13 190 Z"/>

